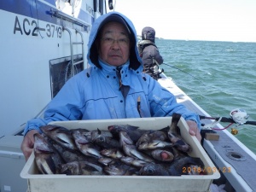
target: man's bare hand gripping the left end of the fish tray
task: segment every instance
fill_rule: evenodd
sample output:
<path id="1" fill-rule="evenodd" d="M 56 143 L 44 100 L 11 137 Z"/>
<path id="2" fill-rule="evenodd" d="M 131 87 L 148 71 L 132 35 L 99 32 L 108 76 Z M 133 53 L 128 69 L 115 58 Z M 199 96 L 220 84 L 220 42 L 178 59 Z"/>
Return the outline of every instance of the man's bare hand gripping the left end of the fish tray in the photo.
<path id="1" fill-rule="evenodd" d="M 23 141 L 21 143 L 21 150 L 25 156 L 25 159 L 28 160 L 30 155 L 32 154 L 33 147 L 34 147 L 34 134 L 38 133 L 37 130 L 28 131 L 26 133 L 26 136 L 23 138 Z"/>

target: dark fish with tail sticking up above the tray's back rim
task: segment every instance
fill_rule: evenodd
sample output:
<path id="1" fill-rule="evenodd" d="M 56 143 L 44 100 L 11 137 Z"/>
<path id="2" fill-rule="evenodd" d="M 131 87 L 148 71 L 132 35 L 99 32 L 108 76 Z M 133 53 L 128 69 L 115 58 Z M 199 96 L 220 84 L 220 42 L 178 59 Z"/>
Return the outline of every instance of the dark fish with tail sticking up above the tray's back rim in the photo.
<path id="1" fill-rule="evenodd" d="M 168 137 L 178 150 L 189 153 L 191 152 L 192 149 L 190 148 L 188 143 L 185 143 L 183 141 L 183 138 L 180 136 L 179 129 L 177 127 L 177 123 L 180 117 L 181 117 L 181 114 L 178 114 L 178 113 L 172 114 L 172 124 L 168 131 Z"/>

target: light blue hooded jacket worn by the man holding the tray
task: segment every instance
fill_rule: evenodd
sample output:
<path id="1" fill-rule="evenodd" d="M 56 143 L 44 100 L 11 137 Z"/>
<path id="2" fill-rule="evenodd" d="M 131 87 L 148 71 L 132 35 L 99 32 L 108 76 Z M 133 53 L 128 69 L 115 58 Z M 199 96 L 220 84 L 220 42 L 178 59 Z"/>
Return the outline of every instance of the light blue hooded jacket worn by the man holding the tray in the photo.
<path id="1" fill-rule="evenodd" d="M 113 15 L 119 15 L 131 32 L 130 59 L 120 71 L 122 84 L 130 87 L 127 96 L 123 96 L 119 90 L 116 67 L 103 63 L 96 49 L 98 32 Z M 24 134 L 57 120 L 165 117 L 172 116 L 172 113 L 181 113 L 184 119 L 194 120 L 200 128 L 200 119 L 196 113 L 177 103 L 172 93 L 143 73 L 137 50 L 137 32 L 125 15 L 110 12 L 100 16 L 91 28 L 88 49 L 90 68 L 69 79 L 49 102 L 44 119 L 29 120 Z"/>

